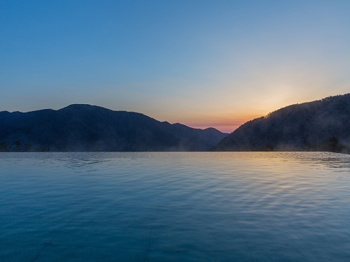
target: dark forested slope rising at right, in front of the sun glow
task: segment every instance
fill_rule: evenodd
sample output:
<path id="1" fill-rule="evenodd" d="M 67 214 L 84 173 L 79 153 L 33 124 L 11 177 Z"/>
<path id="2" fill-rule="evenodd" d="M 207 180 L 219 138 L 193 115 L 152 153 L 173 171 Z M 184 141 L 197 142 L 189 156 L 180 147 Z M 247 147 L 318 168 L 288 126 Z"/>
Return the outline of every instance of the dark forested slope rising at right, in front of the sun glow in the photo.
<path id="1" fill-rule="evenodd" d="M 289 105 L 253 119 L 213 150 L 350 152 L 350 94 Z"/>

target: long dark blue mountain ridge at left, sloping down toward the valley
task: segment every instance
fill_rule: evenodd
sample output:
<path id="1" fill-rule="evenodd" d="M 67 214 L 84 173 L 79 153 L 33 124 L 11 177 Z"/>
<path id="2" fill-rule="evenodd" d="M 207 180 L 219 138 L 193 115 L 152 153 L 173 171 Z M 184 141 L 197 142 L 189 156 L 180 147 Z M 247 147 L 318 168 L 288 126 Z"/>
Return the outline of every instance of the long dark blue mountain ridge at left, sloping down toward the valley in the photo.
<path id="1" fill-rule="evenodd" d="M 206 151 L 227 135 L 95 105 L 0 112 L 0 151 Z"/>

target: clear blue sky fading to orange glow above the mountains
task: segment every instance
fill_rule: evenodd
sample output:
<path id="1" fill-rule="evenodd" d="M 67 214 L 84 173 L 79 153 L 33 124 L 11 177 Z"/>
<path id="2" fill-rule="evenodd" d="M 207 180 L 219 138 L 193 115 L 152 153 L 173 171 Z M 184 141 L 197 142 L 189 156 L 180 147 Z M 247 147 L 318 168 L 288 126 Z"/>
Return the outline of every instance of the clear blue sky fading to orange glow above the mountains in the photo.
<path id="1" fill-rule="evenodd" d="M 88 103 L 232 132 L 350 92 L 349 0 L 0 0 L 0 111 Z"/>

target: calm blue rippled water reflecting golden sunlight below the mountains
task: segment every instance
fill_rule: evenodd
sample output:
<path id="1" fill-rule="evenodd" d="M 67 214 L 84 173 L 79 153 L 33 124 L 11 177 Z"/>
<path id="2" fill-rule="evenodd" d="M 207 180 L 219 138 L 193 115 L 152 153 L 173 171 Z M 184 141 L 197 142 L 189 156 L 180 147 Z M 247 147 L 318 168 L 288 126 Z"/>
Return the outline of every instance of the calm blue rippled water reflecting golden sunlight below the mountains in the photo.
<path id="1" fill-rule="evenodd" d="M 350 261 L 350 155 L 1 153 L 0 261 Z"/>

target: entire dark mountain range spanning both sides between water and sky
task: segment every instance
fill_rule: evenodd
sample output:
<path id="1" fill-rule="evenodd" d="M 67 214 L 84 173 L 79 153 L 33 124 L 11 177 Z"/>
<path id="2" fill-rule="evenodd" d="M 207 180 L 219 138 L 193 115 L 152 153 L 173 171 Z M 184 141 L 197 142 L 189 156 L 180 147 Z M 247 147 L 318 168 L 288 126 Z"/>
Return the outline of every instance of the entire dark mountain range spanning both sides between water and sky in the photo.
<path id="1" fill-rule="evenodd" d="M 289 105 L 230 133 L 169 124 L 95 105 L 0 112 L 0 152 L 350 152 L 350 94 Z"/>

